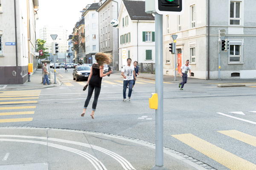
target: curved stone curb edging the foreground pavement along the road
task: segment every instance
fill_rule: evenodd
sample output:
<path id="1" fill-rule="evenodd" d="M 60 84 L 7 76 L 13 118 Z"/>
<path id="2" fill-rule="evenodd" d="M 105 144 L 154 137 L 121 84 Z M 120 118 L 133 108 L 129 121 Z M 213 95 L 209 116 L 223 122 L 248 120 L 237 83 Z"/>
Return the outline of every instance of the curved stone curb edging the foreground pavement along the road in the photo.
<path id="1" fill-rule="evenodd" d="M 77 132 L 77 133 L 87 133 L 87 134 L 93 134 L 93 135 L 99 135 L 99 136 L 106 136 L 111 137 L 115 139 L 125 140 L 127 142 L 133 142 L 136 144 L 140 144 L 146 147 L 150 147 L 151 149 L 155 150 L 155 144 L 147 141 L 143 141 L 140 139 L 130 138 L 127 136 L 122 135 L 116 135 L 111 133 L 102 133 L 102 132 L 94 132 L 94 131 L 88 131 L 88 130 L 74 130 L 74 129 L 62 129 L 62 128 L 51 128 L 51 127 L 0 127 L 0 128 L 20 128 L 20 129 L 45 129 L 45 130 L 62 130 L 62 131 L 70 131 L 70 132 Z M 178 152 L 176 150 L 172 150 L 168 147 L 163 147 L 163 153 L 168 154 L 169 156 L 172 156 L 180 161 L 183 161 L 186 164 L 189 164 L 192 167 L 195 167 L 197 170 L 216 170 L 215 168 L 209 166 L 208 164 L 205 164 L 204 162 L 201 162 L 197 159 L 192 158 L 191 156 L 188 156 L 184 153 Z"/>

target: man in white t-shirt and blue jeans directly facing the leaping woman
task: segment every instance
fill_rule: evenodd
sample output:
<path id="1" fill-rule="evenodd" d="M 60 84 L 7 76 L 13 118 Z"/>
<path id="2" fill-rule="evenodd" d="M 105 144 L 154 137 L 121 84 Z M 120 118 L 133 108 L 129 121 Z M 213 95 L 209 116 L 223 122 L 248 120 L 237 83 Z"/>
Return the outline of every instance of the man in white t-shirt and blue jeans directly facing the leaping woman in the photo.
<path id="1" fill-rule="evenodd" d="M 124 77 L 124 86 L 123 86 L 123 101 L 126 100 L 126 88 L 129 84 L 128 100 L 131 100 L 131 92 L 133 81 L 136 80 L 136 75 L 134 71 L 134 65 L 131 65 L 131 59 L 127 59 L 127 65 L 122 68 L 122 77 Z"/>

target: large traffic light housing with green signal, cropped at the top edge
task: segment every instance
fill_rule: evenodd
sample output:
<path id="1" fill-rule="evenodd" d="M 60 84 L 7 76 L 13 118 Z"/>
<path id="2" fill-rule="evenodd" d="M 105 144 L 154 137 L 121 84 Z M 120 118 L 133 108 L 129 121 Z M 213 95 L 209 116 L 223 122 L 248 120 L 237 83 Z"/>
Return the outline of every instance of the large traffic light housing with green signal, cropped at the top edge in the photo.
<path id="1" fill-rule="evenodd" d="M 184 0 L 155 0 L 157 14 L 183 14 Z"/>

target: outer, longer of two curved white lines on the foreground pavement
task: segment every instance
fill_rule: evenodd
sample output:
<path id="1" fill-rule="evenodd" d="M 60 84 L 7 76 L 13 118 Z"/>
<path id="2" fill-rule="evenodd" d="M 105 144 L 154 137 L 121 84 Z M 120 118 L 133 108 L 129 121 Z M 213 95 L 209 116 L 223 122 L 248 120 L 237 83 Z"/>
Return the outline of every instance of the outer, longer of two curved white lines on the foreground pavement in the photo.
<path id="1" fill-rule="evenodd" d="M 143 118 L 144 119 L 144 118 Z M 47 140 L 46 137 L 38 137 L 38 136 L 20 136 L 20 135 L 0 135 L 0 137 L 16 137 L 16 138 L 29 138 L 29 139 L 44 139 L 44 140 Z M 1 141 L 2 139 L 0 139 Z M 12 140 L 15 140 L 15 139 L 12 139 Z M 18 140 L 18 139 L 17 139 Z M 119 164 L 122 165 L 122 167 L 125 169 L 125 170 L 136 170 L 129 161 L 127 161 L 125 158 L 123 158 L 122 156 L 119 156 L 118 154 L 110 151 L 110 150 L 107 150 L 107 149 L 104 149 L 102 147 L 98 147 L 98 146 L 95 146 L 95 145 L 90 145 L 90 144 L 84 144 L 84 143 L 81 143 L 81 142 L 74 142 L 74 141 L 68 141 L 68 140 L 64 140 L 64 139 L 56 139 L 56 138 L 48 138 L 49 141 L 55 141 L 55 142 L 63 142 L 63 143 L 69 143 L 69 144 L 77 144 L 77 145 L 80 145 L 80 146 L 84 146 L 84 147 L 89 147 L 89 148 L 93 148 L 95 150 L 99 150 L 100 152 L 102 153 L 105 153 L 109 156 L 111 156 L 113 159 L 116 159 L 116 161 L 119 162 Z M 37 141 L 34 141 L 34 142 L 37 142 Z M 32 142 L 31 142 L 32 143 Z M 48 142 L 49 144 L 49 142 Z M 52 143 L 50 143 L 52 144 Z M 62 145 L 60 145 L 61 147 L 64 147 Z M 71 148 L 72 149 L 72 148 Z M 75 149 L 73 149 L 75 150 Z M 80 151 L 80 150 L 79 150 Z M 81 151 L 82 152 L 82 151 Z M 75 152 L 74 152 L 75 153 Z M 90 154 L 89 154 L 90 155 Z M 96 159 L 96 158 L 95 158 Z M 99 161 L 99 160 L 98 160 Z M 100 162 L 100 161 L 99 161 Z M 101 163 L 101 162 L 100 162 Z M 103 165 L 104 166 L 104 165 Z"/>

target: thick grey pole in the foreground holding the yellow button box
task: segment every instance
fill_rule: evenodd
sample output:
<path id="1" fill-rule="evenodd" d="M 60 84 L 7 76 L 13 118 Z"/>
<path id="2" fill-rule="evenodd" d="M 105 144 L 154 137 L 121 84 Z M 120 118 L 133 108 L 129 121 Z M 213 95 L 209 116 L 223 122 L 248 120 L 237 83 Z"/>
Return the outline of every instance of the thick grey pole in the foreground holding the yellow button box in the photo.
<path id="1" fill-rule="evenodd" d="M 156 109 L 156 153 L 155 165 L 151 170 L 167 170 L 163 166 L 163 15 L 155 15 L 155 51 L 156 51 L 156 94 L 158 107 Z"/>

